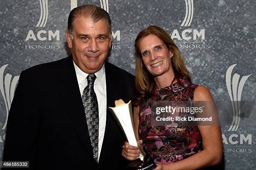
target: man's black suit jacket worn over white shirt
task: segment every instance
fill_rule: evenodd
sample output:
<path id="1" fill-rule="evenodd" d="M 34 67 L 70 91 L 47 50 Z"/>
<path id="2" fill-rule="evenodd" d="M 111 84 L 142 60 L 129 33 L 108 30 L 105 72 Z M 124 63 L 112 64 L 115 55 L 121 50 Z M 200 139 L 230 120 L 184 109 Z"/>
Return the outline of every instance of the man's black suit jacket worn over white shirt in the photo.
<path id="1" fill-rule="evenodd" d="M 24 70 L 10 108 L 3 160 L 29 161 L 30 169 L 125 169 L 125 137 L 108 107 L 133 100 L 134 76 L 105 62 L 107 117 L 95 161 L 72 55 Z M 8 168 L 9 169 L 9 168 Z"/>

